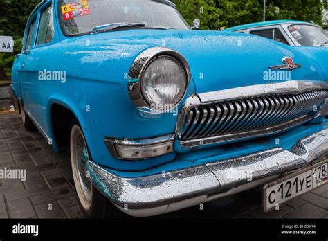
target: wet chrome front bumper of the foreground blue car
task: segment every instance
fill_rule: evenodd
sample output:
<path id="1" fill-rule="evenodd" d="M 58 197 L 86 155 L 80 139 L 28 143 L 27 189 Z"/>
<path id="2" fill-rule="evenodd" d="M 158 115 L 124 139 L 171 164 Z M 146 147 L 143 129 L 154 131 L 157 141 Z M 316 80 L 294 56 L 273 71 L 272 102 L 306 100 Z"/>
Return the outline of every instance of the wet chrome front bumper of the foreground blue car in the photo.
<path id="1" fill-rule="evenodd" d="M 93 184 L 125 213 L 145 217 L 176 211 L 254 188 L 328 153 L 328 128 L 298 141 L 244 157 L 147 177 L 123 178 L 89 161 Z M 231 175 L 247 172 L 248 175 Z M 251 180 L 250 178 L 251 177 Z"/>

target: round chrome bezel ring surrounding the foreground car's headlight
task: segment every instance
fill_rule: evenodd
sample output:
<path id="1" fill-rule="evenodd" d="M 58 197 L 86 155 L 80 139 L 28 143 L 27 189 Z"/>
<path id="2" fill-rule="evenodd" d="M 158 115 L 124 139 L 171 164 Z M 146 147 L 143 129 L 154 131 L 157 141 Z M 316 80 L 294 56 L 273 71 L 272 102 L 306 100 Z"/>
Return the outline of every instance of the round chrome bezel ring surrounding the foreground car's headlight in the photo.
<path id="1" fill-rule="evenodd" d="M 145 111 L 153 114 L 154 111 L 152 109 L 152 105 L 155 103 L 150 103 L 149 100 L 147 101 L 147 98 L 145 98 L 145 93 L 143 92 L 143 75 L 149 64 L 151 64 L 159 57 L 170 57 L 172 60 L 181 64 L 185 71 L 185 76 L 187 78 L 185 80 L 185 91 L 183 92 L 182 98 L 179 100 L 179 102 L 174 103 L 174 105 L 179 105 L 179 103 L 183 100 L 185 94 L 188 91 L 189 83 L 191 80 L 190 67 L 188 62 L 180 53 L 163 47 L 148 48 L 147 50 L 143 51 L 143 53 L 140 53 L 140 55 L 136 57 L 136 60 L 134 60 L 134 63 L 129 70 L 129 97 L 131 98 L 134 105 L 140 109 L 140 111 Z M 156 114 L 160 114 L 158 111 L 155 112 Z"/>

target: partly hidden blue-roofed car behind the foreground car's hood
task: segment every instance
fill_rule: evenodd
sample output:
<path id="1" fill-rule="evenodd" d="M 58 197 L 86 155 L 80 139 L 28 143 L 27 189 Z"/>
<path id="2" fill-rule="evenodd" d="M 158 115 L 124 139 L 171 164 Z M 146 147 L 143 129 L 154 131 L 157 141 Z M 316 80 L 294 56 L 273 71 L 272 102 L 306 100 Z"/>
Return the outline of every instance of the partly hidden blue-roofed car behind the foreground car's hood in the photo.
<path id="1" fill-rule="evenodd" d="M 224 31 L 248 33 L 288 44 L 290 46 L 328 47 L 328 33 L 320 26 L 306 21 L 276 20 L 244 24 Z"/>

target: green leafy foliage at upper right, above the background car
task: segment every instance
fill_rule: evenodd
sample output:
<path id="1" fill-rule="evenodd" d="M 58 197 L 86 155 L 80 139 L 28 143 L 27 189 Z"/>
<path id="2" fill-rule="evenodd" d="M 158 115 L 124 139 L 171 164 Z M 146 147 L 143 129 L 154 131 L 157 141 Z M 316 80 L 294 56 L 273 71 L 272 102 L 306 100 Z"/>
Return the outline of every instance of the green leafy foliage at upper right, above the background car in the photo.
<path id="1" fill-rule="evenodd" d="M 263 21 L 263 0 L 172 0 L 192 25 L 201 19 L 201 29 L 218 30 Z M 322 25 L 320 0 L 266 0 L 266 20 L 293 19 Z"/>

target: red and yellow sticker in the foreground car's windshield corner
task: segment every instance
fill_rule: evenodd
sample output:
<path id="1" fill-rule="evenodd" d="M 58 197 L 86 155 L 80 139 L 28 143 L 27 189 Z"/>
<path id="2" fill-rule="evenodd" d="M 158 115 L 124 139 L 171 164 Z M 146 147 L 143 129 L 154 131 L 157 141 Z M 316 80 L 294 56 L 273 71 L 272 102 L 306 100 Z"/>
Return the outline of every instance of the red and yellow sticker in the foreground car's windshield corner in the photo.
<path id="1" fill-rule="evenodd" d="M 82 15 L 89 15 L 89 4 L 87 0 L 76 1 L 75 3 L 70 3 L 62 6 L 62 15 L 64 21 L 72 19 L 74 17 L 79 17 Z"/>

